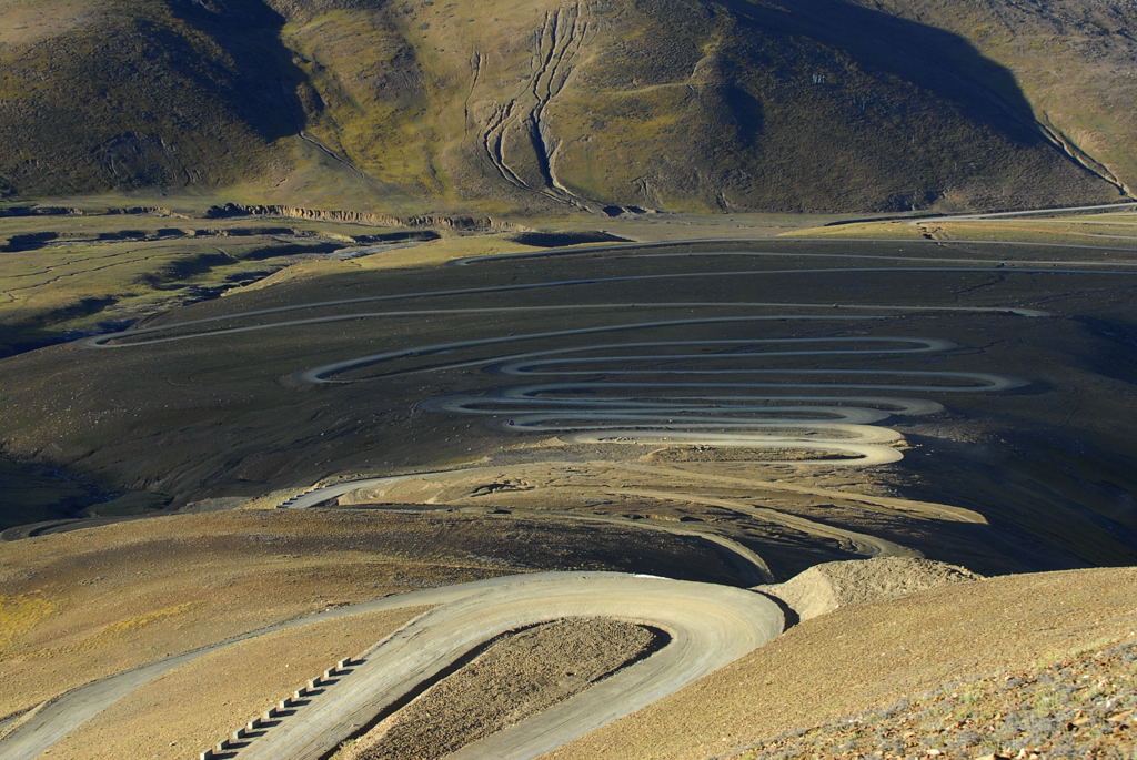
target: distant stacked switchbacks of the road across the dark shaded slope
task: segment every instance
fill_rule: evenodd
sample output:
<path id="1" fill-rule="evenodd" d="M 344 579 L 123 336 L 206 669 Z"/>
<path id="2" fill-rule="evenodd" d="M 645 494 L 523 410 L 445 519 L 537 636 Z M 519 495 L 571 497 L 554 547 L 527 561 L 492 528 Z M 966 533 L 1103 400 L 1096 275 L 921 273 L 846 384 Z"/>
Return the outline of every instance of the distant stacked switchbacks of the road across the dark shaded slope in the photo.
<path id="1" fill-rule="evenodd" d="M 652 248 L 652 247 L 641 247 Z M 621 247 L 600 247 L 586 249 L 623 251 Z M 579 249 L 551 250 L 526 253 L 525 257 L 563 256 L 581 253 Z M 559 383 L 530 385 L 520 392 L 517 389 L 501 389 L 497 393 L 456 396 L 445 400 L 424 400 L 433 408 L 449 412 L 509 416 L 509 426 L 515 432 L 554 432 L 561 434 L 565 443 L 642 443 L 642 444 L 677 444 L 677 445 L 711 445 L 719 448 L 749 448 L 778 452 L 789 450 L 792 457 L 788 460 L 794 466 L 840 466 L 865 467 L 886 465 L 898 461 L 903 454 L 893 445 L 901 437 L 889 428 L 874 427 L 872 423 L 881 421 L 894 411 L 881 415 L 881 407 L 875 395 L 881 392 L 904 392 L 913 395 L 943 394 L 960 392 L 998 392 L 1022 385 L 1021 381 L 987 373 L 957 371 L 915 371 L 895 369 L 889 366 L 879 369 L 870 368 L 818 368 L 800 369 L 788 367 L 757 366 L 771 360 L 799 357 L 833 357 L 848 358 L 863 356 L 889 357 L 896 354 L 932 353 L 952 350 L 953 344 L 943 339 L 894 336 L 894 337 L 832 337 L 832 339 L 770 339 L 755 336 L 748 340 L 735 341 L 626 341 L 622 343 L 597 342 L 580 344 L 579 339 L 589 335 L 613 333 L 658 333 L 706 325 L 712 327 L 739 326 L 752 324 L 761 327 L 762 323 L 848 323 L 858 321 L 866 325 L 873 320 L 882 320 L 902 314 L 998 314 L 1023 318 L 1043 316 L 1045 312 L 1019 307 L 935 307 L 926 304 L 848 304 L 848 303 L 787 303 L 787 302 L 646 302 L 646 303 L 571 303 L 557 306 L 525 307 L 485 307 L 485 308 L 439 308 L 413 310 L 383 310 L 371 312 L 351 312 L 342 315 L 313 317 L 308 319 L 284 319 L 269 324 L 244 325 L 210 329 L 210 323 L 240 320 L 242 318 L 263 317 L 267 315 L 293 312 L 304 309 L 326 308 L 332 306 L 351 306 L 364 302 L 397 301 L 402 299 L 437 299 L 456 295 L 509 293 L 540 289 L 571 289 L 573 286 L 595 286 L 599 284 L 644 284 L 649 282 L 669 282 L 691 278 L 738 278 L 764 277 L 771 275 L 813 276 L 821 274 L 857 274 L 857 275 L 903 275 L 915 273 L 990 273 L 998 272 L 1001 276 L 1009 275 L 1076 275 L 1076 274 L 1137 274 L 1137 262 L 1111 261 L 1109 268 L 1098 268 L 1098 264 L 1078 261 L 1006 261 L 977 258 L 928 258 L 920 259 L 888 257 L 874 254 L 839 254 L 839 253 L 786 253 L 769 251 L 704 251 L 692 253 L 639 252 L 638 257 L 796 257 L 810 258 L 844 258 L 893 260 L 898 266 L 891 267 L 830 267 L 830 268 L 791 268 L 791 269 L 757 269 L 727 272 L 681 272 L 667 274 L 638 274 L 624 276 L 589 277 L 578 279 L 553 279 L 545 282 L 492 285 L 484 287 L 450 289 L 440 291 L 423 291 L 415 293 L 365 297 L 340 301 L 321 301 L 315 303 L 292 304 L 274 309 L 262 309 L 241 314 L 226 315 L 209 319 L 191 320 L 157 327 L 130 331 L 97 336 L 88 341 L 91 348 L 126 349 L 171 341 L 198 339 L 219 339 L 240 333 L 284 329 L 289 327 L 313 326 L 342 320 L 364 318 L 401 318 L 413 316 L 449 316 L 493 314 L 539 314 L 549 311 L 570 311 L 580 314 L 587 310 L 620 311 L 628 309 L 652 310 L 702 310 L 714 316 L 687 317 L 681 319 L 655 319 L 615 321 L 591 327 L 568 327 L 556 331 L 540 331 L 521 334 L 499 335 L 465 341 L 448 341 L 443 343 L 414 345 L 402 349 L 383 351 L 366 356 L 352 357 L 341 361 L 314 367 L 300 371 L 291 381 L 300 384 L 329 384 L 360 382 L 360 378 L 346 377 L 362 369 L 376 369 L 382 365 L 409 358 L 425 358 L 447 354 L 459 350 L 489 349 L 490 346 L 525 341 L 565 342 L 572 340 L 575 345 L 562 346 L 546 351 L 523 353 L 487 353 L 478 359 L 466 359 L 435 364 L 428 367 L 407 369 L 381 369 L 379 375 L 407 374 L 414 371 L 442 371 L 468 367 L 482 367 L 487 371 L 501 375 L 553 375 L 571 378 L 573 376 L 590 376 L 594 379 L 579 383 Z M 516 258 L 509 254 L 503 257 L 464 259 L 457 264 L 472 265 L 485 261 L 497 261 Z M 951 264 L 954 266 L 913 266 L 921 264 Z M 777 314 L 754 314 L 755 310 L 796 309 Z M 723 310 L 733 314 L 722 314 Z M 823 310 L 818 312 L 816 310 Z M 854 314 L 849 314 L 853 311 Z M 874 314 L 863 314 L 863 312 Z M 717 312 L 717 314 L 716 314 Z M 739 314 L 741 312 L 741 314 Z M 720 316 L 721 315 L 721 316 Z M 190 329 L 186 328 L 196 328 Z M 175 334 L 169 334 L 174 332 Z M 812 345 L 811 345 L 812 344 Z M 688 348 L 688 351 L 669 351 L 667 349 Z M 795 349 L 796 350 L 775 350 Z M 620 351 L 617 356 L 566 356 L 570 353 L 595 353 L 612 349 Z M 644 351 L 647 349 L 647 351 Z M 652 351 L 656 349 L 657 351 Z M 694 351 L 691 349 L 698 349 Z M 773 349 L 773 350 L 772 350 Z M 708 367 L 708 362 L 731 366 Z M 653 366 L 666 364 L 667 367 Z M 875 364 L 875 362 L 873 362 Z M 700 366 L 702 365 L 702 366 Z M 604 381 L 596 381 L 601 375 Z M 705 383 L 666 383 L 667 375 L 714 376 Z M 611 377 L 624 377 L 639 382 L 611 382 Z M 723 382 L 732 378 L 736 382 Z M 769 378 L 762 382 L 764 378 Z M 366 379 L 366 378 L 363 378 Z M 893 382 L 880 382 L 893 379 Z M 875 381 L 875 382 L 873 382 Z M 696 393 L 696 387 L 704 393 Z M 611 395 L 596 395 L 598 391 L 608 391 Z M 747 393 L 762 391 L 762 394 Z M 781 394 L 797 391 L 792 399 L 796 404 L 787 404 L 788 399 L 778 398 Z M 811 391 L 818 395 L 802 395 L 800 391 Z M 843 395 L 835 400 L 832 392 Z M 862 396 L 863 392 L 872 392 L 872 396 Z M 823 393 L 822 393 L 823 392 Z M 852 393 L 850 393 L 852 392 Z M 589 396 L 587 401 L 582 398 Z M 916 400 L 905 400 L 919 404 Z M 840 407 L 838 409 L 837 407 Z M 871 420 L 871 421 L 870 421 Z M 812 451 L 814 456 L 802 457 L 802 451 Z"/>

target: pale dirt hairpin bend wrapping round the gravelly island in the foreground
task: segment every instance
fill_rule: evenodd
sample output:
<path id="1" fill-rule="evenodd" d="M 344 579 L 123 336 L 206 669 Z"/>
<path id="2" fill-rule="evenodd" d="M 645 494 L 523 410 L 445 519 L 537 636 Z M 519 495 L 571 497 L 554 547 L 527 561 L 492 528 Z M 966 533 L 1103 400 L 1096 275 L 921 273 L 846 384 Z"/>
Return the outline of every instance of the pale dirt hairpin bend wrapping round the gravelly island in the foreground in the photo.
<path id="1" fill-rule="evenodd" d="M 663 629 L 659 652 L 456 757 L 533 758 L 647 707 L 779 635 L 780 608 L 755 592 L 615 573 L 522 576 L 437 608 L 364 653 L 350 678 L 297 710 L 240 760 L 316 760 L 484 641 L 564 617 Z"/>

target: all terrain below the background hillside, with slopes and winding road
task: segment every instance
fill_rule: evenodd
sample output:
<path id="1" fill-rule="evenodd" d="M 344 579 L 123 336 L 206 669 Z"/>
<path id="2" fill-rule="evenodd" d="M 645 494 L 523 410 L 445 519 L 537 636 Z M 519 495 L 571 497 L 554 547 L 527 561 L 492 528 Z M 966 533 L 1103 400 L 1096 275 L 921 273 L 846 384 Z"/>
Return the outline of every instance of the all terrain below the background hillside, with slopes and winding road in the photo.
<path id="1" fill-rule="evenodd" d="M 135 290 L 0 362 L 5 757 L 1124 757 L 1129 207 L 15 219 Z"/>

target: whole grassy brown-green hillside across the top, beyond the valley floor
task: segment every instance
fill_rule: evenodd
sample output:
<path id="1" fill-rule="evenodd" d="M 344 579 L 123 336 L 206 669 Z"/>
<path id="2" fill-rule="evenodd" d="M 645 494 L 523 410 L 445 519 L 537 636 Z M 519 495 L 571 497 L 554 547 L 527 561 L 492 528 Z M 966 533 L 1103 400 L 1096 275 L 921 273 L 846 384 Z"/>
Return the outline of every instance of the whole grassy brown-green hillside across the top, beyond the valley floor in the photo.
<path id="1" fill-rule="evenodd" d="M 0 193 L 326 184 L 490 212 L 1118 195 L 1123 11 L 895 5 L 3 0 Z"/>

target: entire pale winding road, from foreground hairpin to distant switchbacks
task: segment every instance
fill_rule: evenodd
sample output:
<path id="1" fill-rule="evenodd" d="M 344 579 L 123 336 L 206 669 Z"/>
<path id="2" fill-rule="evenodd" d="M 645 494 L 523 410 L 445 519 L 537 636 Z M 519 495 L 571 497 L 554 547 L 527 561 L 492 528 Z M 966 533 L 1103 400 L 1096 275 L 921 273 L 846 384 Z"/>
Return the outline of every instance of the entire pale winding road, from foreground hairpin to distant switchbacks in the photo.
<path id="1" fill-rule="evenodd" d="M 888 242 L 896 243 L 896 241 Z M 910 242 L 904 241 L 904 244 Z M 943 245 L 944 241 L 933 243 Z M 977 241 L 965 241 L 965 243 L 981 244 Z M 508 294 L 534 290 L 564 290 L 571 297 L 571 289 L 578 286 L 675 283 L 696 278 L 748 277 L 760 282 L 761 277 L 773 275 L 904 276 L 936 273 L 997 273 L 1001 276 L 1081 274 L 1128 276 L 1137 274 L 1137 261 L 1128 260 L 1013 261 L 962 257 L 921 258 L 773 251 L 642 252 L 642 249 L 675 244 L 553 250 L 488 259 L 464 259 L 454 264 L 470 266 L 511 258 L 599 251 L 614 251 L 619 256 L 622 254 L 621 251 L 628 251 L 632 257 L 652 258 L 695 259 L 737 256 L 781 257 L 803 261 L 832 258 L 890 261 L 894 266 L 638 274 L 364 297 L 290 304 L 131 329 L 88 339 L 85 345 L 101 350 L 138 350 L 174 341 L 224 340 L 227 336 L 262 331 L 407 316 L 460 317 L 490 312 L 523 316 L 558 310 L 565 315 L 579 315 L 586 310 L 684 309 L 706 316 L 630 320 L 613 318 L 613 321 L 598 326 L 570 325 L 556 331 L 401 346 L 314 367 L 290 379 L 300 384 L 325 385 L 374 382 L 384 376 L 384 373 L 402 375 L 463 368 L 480 369 L 503 378 L 556 377 L 558 378 L 556 381 L 424 399 L 423 402 L 437 414 L 491 416 L 503 428 L 518 433 L 555 435 L 564 443 L 741 446 L 767 450 L 775 454 L 771 461 L 789 467 L 865 467 L 895 462 L 903 457 L 896 446 L 902 440 L 901 434 L 882 426 L 881 423 L 895 416 L 930 415 L 941 409 L 938 401 L 924 399 L 923 395 L 996 393 L 1015 389 L 1022 385 L 1022 381 L 990 373 L 921 371 L 897 368 L 897 362 L 906 357 L 919 358 L 955 350 L 953 342 L 933 336 L 871 335 L 806 339 L 753 335 L 695 341 L 679 337 L 666 340 L 661 336 L 661 332 L 698 326 L 757 329 L 774 323 L 790 325 L 829 323 L 838 326 L 871 327 L 898 315 L 936 312 L 1030 319 L 1045 316 L 1045 312 L 1016 306 L 997 308 L 920 303 L 754 301 L 575 304 L 570 302 L 505 308 L 390 309 L 310 318 L 291 317 L 294 312 L 309 309 L 373 302 Z M 928 241 L 928 244 L 932 244 L 932 241 Z M 1009 245 L 1003 241 L 994 241 L 991 244 Z M 1040 244 L 1030 245 L 1037 248 Z M 1062 248 L 1134 252 L 1131 249 L 1103 249 L 1088 245 L 1062 245 Z M 760 309 L 764 310 L 763 314 L 755 314 L 755 310 Z M 770 310 L 774 312 L 765 312 Z M 277 315 L 282 319 L 268 324 L 238 326 L 219 324 Z M 628 334 L 631 340 L 613 342 L 611 339 L 600 337 L 614 333 Z M 638 333 L 647 335 L 640 340 L 636 337 Z M 581 341 L 582 337 L 590 336 L 598 336 L 598 342 Z M 524 341 L 549 342 L 557 348 L 521 352 L 501 350 L 506 344 Z M 431 366 L 414 364 L 422 358 L 441 357 L 455 351 L 467 351 L 478 356 L 443 360 Z M 798 360 L 836 362 L 857 359 L 863 359 L 864 362 L 855 369 L 838 366 L 802 368 L 778 364 Z M 399 364 L 395 364 L 397 360 Z M 372 370 L 372 376 L 349 376 L 364 369 Z M 894 398 L 894 394 L 898 395 Z M 783 461 L 779 460 L 777 452 L 787 449 L 795 450 L 795 456 Z M 808 456 L 802 456 L 803 452 Z M 687 469 L 652 467 L 637 462 L 628 462 L 625 467 L 629 471 L 636 470 L 661 478 L 669 471 L 681 474 L 684 478 L 700 477 L 699 473 Z M 937 519 L 981 521 L 981 518 L 973 512 L 941 504 L 749 478 L 717 475 L 713 478 L 720 483 L 738 481 L 740 484 L 769 486 L 803 494 L 831 494 L 833 498 L 840 496 L 897 511 L 930 513 Z M 291 509 L 314 507 L 362 487 L 391 484 L 398 479 L 400 478 L 372 478 L 315 488 L 290 499 L 282 507 Z M 773 509 L 755 507 L 741 499 L 675 493 L 663 488 L 639 488 L 637 493 L 664 501 L 686 500 L 704 503 L 758 520 L 779 523 L 792 529 L 848 543 L 866 556 L 914 554 L 907 548 L 894 542 L 833 528 L 816 520 L 786 515 Z M 721 545 L 730 549 L 729 544 Z M 756 568 L 765 568 L 761 558 L 756 556 L 746 558 L 746 561 L 753 562 Z M 765 571 L 769 573 L 769 568 L 765 568 Z M 240 749 L 238 757 L 242 760 L 323 757 L 345 738 L 357 734 L 375 716 L 382 715 L 408 692 L 432 682 L 455 660 L 479 644 L 501 633 L 534 623 L 571 616 L 608 616 L 654 626 L 671 636 L 671 643 L 652 657 L 625 668 L 580 695 L 513 728 L 472 744 L 454 755 L 471 759 L 531 758 L 682 688 L 773 638 L 783 626 L 781 611 L 771 600 L 753 592 L 727 586 L 606 573 L 548 573 L 495 578 L 474 584 L 413 592 L 283 623 L 72 690 L 19 721 L 3 740 L 0 740 L 0 755 L 11 760 L 31 760 L 110 703 L 132 693 L 161 673 L 207 652 L 239 641 L 255 640 L 274 630 L 334 617 L 413 606 L 439 607 L 416 618 L 389 638 L 379 642 L 365 654 L 365 662 L 355 668 L 349 678 L 329 686 L 307 704 L 300 705 L 294 715 L 283 719 L 279 726 L 251 740 L 247 746 Z"/>

